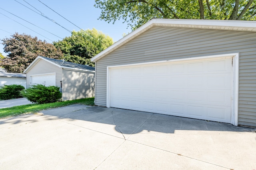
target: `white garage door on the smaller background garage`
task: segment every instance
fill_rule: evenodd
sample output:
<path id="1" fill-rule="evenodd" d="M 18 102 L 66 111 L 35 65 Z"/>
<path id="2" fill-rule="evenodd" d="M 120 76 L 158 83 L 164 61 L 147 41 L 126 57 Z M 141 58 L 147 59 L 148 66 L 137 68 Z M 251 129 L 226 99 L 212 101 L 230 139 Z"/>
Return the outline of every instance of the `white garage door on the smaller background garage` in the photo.
<path id="1" fill-rule="evenodd" d="M 30 85 L 44 84 L 45 86 L 56 86 L 55 73 L 30 76 Z"/>

